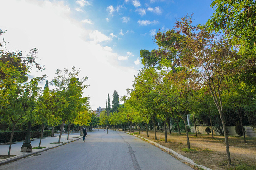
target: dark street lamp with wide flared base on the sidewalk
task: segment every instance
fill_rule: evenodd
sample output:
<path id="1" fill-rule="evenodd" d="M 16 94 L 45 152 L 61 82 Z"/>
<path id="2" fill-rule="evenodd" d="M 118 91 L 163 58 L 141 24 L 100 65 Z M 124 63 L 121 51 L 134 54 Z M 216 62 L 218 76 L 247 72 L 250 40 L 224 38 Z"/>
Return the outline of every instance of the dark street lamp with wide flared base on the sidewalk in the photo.
<path id="1" fill-rule="evenodd" d="M 34 97 L 34 89 L 37 87 L 38 83 L 35 82 L 33 86 L 33 93 L 32 97 Z M 31 121 L 28 122 L 28 128 L 27 128 L 27 134 L 26 138 L 23 142 L 23 145 L 21 146 L 21 152 L 31 152 L 32 151 L 32 146 L 31 146 L 31 141 L 30 141 L 30 128 L 31 128 Z"/>

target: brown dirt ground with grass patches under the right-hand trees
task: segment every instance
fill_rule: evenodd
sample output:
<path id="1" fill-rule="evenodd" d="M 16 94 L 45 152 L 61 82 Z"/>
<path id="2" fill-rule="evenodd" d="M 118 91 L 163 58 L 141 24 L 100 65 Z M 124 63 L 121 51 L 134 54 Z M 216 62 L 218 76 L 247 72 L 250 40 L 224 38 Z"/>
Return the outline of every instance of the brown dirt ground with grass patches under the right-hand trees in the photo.
<path id="1" fill-rule="evenodd" d="M 146 137 L 146 131 L 135 130 L 138 136 Z M 160 136 L 160 140 L 159 140 Z M 187 137 L 186 133 L 182 132 L 179 135 L 177 132 L 169 134 L 167 131 L 167 143 L 164 142 L 164 133 L 157 132 L 158 140 L 155 140 L 154 131 L 149 131 L 148 139 L 159 143 L 175 152 L 192 159 L 199 165 L 206 166 L 213 170 L 226 170 L 235 168 L 236 165 L 246 164 L 249 166 L 256 166 L 256 138 L 246 138 L 247 143 L 244 143 L 243 137 L 229 136 L 229 150 L 232 165 L 228 166 L 228 157 L 226 154 L 225 138 L 224 136 L 207 134 L 189 134 L 190 148 L 192 151 L 186 151 Z"/>

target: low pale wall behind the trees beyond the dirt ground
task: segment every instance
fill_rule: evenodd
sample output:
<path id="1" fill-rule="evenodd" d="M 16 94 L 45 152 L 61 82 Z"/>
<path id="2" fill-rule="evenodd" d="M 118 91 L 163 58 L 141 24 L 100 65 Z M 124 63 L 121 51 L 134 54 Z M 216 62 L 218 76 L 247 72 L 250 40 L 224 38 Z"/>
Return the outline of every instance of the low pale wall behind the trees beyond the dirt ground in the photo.
<path id="1" fill-rule="evenodd" d="M 199 134 L 206 134 L 205 129 L 207 126 L 196 126 L 197 128 L 197 133 Z M 238 136 L 238 134 L 236 134 L 235 132 L 235 126 L 226 126 L 229 130 L 229 135 L 230 136 Z M 210 126 L 209 126 L 210 128 Z M 251 126 L 244 126 L 245 128 L 245 136 L 246 137 L 256 137 L 256 129 L 252 130 Z M 195 133 L 195 129 L 194 126 L 190 126 L 191 132 Z M 211 133 L 210 133 L 211 134 Z M 214 135 L 219 135 L 218 132 L 214 131 L 213 129 L 213 134 Z"/>

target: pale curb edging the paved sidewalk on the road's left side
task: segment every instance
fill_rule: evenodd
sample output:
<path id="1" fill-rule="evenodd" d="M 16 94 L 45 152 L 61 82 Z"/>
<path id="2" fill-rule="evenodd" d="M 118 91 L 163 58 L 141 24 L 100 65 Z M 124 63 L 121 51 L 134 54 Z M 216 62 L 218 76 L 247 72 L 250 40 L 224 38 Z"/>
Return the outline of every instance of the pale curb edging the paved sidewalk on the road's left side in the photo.
<path id="1" fill-rule="evenodd" d="M 37 154 L 37 153 L 40 153 L 40 152 L 47 151 L 49 149 L 53 149 L 53 148 L 65 145 L 65 144 L 70 143 L 70 142 L 74 142 L 74 141 L 79 140 L 81 138 L 82 137 L 74 139 L 74 140 L 66 141 L 66 142 L 60 143 L 58 145 L 54 145 L 54 146 L 46 147 L 46 148 L 43 148 L 43 149 L 39 149 L 39 151 L 35 151 L 35 152 L 31 152 L 31 153 L 25 153 L 25 154 L 22 154 L 22 155 L 16 155 L 14 157 L 11 157 L 10 159 L 0 161 L 0 166 L 4 165 L 4 164 L 7 164 L 7 163 L 10 163 L 10 162 L 13 162 L 13 161 L 18 160 L 18 159 L 26 158 L 28 156 L 31 156 L 31 155 L 34 155 L 34 154 Z"/>

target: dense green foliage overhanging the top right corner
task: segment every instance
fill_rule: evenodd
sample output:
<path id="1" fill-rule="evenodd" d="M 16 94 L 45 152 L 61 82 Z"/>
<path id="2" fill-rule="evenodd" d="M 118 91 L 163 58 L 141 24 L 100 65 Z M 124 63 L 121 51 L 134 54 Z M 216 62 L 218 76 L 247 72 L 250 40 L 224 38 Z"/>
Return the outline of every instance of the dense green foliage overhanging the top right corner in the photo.
<path id="1" fill-rule="evenodd" d="M 242 53 L 256 52 L 255 0 L 214 0 L 210 7 L 215 12 L 207 24 L 210 30 L 225 32 L 225 37 L 233 45 L 239 45 Z"/>

